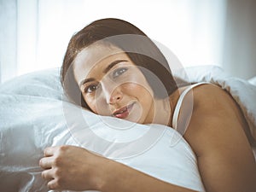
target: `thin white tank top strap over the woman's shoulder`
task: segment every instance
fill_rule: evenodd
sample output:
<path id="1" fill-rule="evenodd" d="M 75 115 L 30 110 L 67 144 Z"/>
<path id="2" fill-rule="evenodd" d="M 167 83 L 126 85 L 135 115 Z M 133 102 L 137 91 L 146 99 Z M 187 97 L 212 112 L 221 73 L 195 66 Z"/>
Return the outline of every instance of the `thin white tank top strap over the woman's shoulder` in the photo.
<path id="1" fill-rule="evenodd" d="M 183 90 L 182 94 L 179 96 L 179 98 L 177 100 L 176 107 L 175 107 L 174 112 L 173 112 L 173 117 L 172 117 L 172 128 L 174 128 L 175 130 L 177 130 L 178 114 L 179 114 L 180 108 L 183 104 L 184 97 L 187 95 L 189 90 L 192 90 L 194 87 L 199 86 L 201 84 L 211 84 L 211 83 L 201 82 L 201 83 L 197 83 L 197 84 L 191 84 L 186 90 Z"/>

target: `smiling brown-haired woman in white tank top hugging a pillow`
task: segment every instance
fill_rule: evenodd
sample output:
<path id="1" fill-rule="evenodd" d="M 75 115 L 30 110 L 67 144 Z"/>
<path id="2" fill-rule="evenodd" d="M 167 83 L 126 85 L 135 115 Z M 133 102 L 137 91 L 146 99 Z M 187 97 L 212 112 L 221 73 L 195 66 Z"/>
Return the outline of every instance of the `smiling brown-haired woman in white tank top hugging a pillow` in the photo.
<path id="1" fill-rule="evenodd" d="M 176 83 L 165 56 L 136 26 L 117 19 L 85 26 L 68 45 L 61 82 L 94 113 L 181 130 L 207 192 L 256 191 L 253 138 L 236 102 L 213 84 Z M 49 189 L 192 191 L 73 146 L 45 148 L 39 164 Z"/>

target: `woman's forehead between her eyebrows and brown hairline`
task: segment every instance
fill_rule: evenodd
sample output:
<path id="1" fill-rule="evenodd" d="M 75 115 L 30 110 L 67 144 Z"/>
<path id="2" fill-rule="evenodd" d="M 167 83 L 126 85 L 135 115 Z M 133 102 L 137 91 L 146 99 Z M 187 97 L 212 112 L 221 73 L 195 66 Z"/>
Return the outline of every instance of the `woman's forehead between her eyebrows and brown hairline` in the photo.
<path id="1" fill-rule="evenodd" d="M 74 76 L 77 81 L 84 79 L 88 74 L 97 69 L 101 70 L 102 67 L 108 65 L 114 59 L 126 59 L 129 57 L 122 49 L 110 44 L 92 44 L 80 51 L 73 61 Z M 104 61 L 104 62 L 102 62 Z M 101 63 L 104 63 L 102 65 Z"/>

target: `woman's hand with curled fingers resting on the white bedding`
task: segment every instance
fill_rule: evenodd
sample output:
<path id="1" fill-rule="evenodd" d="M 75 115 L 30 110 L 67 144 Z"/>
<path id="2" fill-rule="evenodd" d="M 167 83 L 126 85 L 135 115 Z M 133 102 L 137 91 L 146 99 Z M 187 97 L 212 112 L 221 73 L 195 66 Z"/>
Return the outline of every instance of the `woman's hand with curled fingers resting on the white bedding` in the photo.
<path id="1" fill-rule="evenodd" d="M 39 166 L 49 189 L 87 190 L 97 189 L 101 183 L 104 161 L 108 159 L 84 148 L 64 145 L 45 148 Z"/>

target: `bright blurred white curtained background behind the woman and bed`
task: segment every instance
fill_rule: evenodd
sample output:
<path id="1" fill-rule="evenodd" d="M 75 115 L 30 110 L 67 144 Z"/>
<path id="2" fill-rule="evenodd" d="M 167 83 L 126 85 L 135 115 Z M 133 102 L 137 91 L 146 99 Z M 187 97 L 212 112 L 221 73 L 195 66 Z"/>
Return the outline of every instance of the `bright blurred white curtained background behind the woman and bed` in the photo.
<path id="1" fill-rule="evenodd" d="M 0 83 L 61 67 L 74 32 L 96 19 L 130 21 L 184 67 L 256 75 L 255 0 L 0 0 Z"/>

